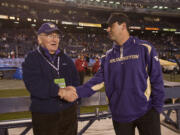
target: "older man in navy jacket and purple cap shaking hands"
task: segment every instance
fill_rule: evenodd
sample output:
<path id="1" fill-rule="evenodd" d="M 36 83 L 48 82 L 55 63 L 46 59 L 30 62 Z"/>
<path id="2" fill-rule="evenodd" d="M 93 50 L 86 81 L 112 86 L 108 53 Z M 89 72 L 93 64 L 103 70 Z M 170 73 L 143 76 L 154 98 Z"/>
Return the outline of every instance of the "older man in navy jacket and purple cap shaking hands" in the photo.
<path id="1" fill-rule="evenodd" d="M 79 78 L 73 61 L 60 50 L 60 31 L 53 23 L 38 30 L 39 47 L 25 58 L 23 80 L 31 95 L 34 135 L 76 135 L 76 102 L 63 98 L 77 96 L 75 91 L 60 90 L 78 86 Z"/>

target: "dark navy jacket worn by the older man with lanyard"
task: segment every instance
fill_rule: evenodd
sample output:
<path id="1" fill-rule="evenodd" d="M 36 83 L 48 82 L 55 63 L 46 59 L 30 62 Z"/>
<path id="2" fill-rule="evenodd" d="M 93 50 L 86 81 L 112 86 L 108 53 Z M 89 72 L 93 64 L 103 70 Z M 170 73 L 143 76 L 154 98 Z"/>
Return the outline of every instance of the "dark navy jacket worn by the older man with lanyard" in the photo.
<path id="1" fill-rule="evenodd" d="M 41 52 L 41 51 L 40 51 Z M 71 58 L 62 51 L 58 57 L 59 75 L 47 62 L 44 53 L 37 50 L 30 52 L 22 64 L 23 80 L 31 95 L 32 112 L 59 112 L 70 107 L 72 104 L 60 99 L 58 96 L 59 86 L 54 83 L 55 78 L 65 78 L 66 86 L 78 86 L 79 77 Z"/>

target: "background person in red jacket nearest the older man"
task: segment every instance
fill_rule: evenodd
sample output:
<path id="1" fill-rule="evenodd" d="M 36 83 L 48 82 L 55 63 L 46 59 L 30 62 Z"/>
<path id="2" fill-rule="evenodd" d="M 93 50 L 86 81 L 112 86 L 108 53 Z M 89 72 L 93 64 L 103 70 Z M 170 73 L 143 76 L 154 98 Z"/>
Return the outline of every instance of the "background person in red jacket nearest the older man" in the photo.
<path id="1" fill-rule="evenodd" d="M 75 65 L 76 65 L 76 69 L 79 73 L 80 85 L 82 85 L 84 82 L 84 77 L 85 77 L 86 69 L 88 66 L 86 60 L 84 59 L 83 54 L 80 54 L 80 56 L 76 59 Z"/>

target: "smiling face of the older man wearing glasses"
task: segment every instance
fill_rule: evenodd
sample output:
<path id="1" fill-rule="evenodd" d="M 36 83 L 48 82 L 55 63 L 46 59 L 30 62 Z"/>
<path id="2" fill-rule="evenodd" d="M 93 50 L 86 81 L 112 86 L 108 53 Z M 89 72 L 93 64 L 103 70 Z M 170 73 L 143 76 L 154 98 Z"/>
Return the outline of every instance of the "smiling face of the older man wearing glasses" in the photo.
<path id="1" fill-rule="evenodd" d="M 50 34 L 41 33 L 38 35 L 39 44 L 46 48 L 50 54 L 54 54 L 59 47 L 59 34 L 52 32 Z"/>

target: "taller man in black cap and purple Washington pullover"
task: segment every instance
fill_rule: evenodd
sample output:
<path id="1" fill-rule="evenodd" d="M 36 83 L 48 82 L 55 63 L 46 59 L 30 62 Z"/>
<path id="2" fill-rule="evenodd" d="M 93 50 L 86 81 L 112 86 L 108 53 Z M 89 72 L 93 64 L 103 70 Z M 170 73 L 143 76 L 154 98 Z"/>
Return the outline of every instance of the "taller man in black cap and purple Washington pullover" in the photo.
<path id="1" fill-rule="evenodd" d="M 74 89 L 83 98 L 105 86 L 116 135 L 135 135 L 136 127 L 140 135 L 161 135 L 165 95 L 161 66 L 151 43 L 130 36 L 129 23 L 125 14 L 110 16 L 107 32 L 114 43 L 99 71 L 84 85 L 64 89 Z"/>

